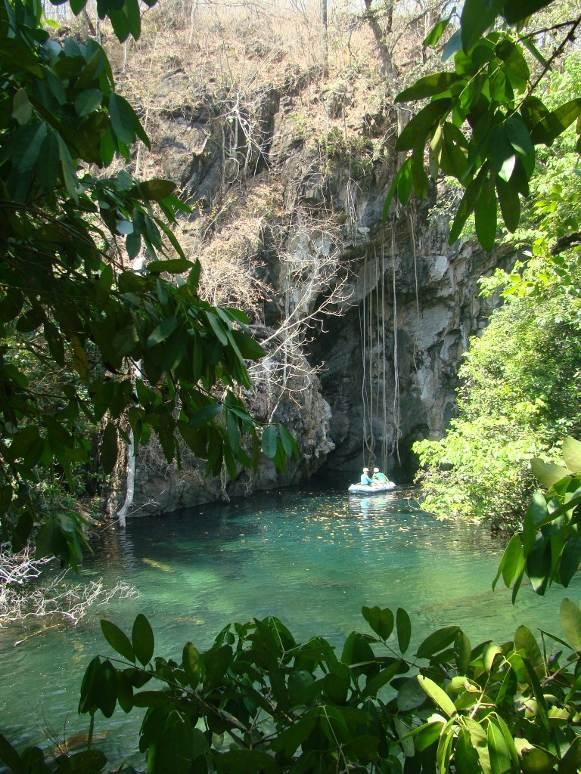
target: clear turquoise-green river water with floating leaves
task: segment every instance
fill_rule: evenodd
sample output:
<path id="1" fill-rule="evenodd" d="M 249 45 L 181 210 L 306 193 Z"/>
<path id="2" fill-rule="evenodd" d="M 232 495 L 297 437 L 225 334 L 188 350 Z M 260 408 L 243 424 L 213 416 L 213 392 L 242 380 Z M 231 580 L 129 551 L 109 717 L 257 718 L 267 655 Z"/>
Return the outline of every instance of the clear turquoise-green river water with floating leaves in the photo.
<path id="1" fill-rule="evenodd" d="M 0 630 L 0 729 L 20 744 L 86 730 L 76 714 L 80 677 L 94 654 L 110 654 L 100 617 L 128 630 L 144 612 L 156 652 L 174 657 L 187 640 L 205 647 L 226 623 L 268 614 L 298 637 L 323 634 L 338 644 L 365 629 L 365 604 L 405 607 L 416 642 L 447 624 L 461 625 L 473 644 L 507 638 L 517 623 L 558 632 L 561 591 L 542 599 L 524 589 L 513 607 L 509 592 L 490 590 L 501 551 L 485 529 L 435 521 L 401 491 L 366 499 L 285 491 L 134 520 L 125 534 L 105 536 L 83 574 L 126 580 L 137 599 L 26 645 L 13 643 L 32 630 Z M 580 585 L 568 594 L 579 596 Z M 137 713 L 118 710 L 97 730 L 116 728 L 103 744 L 120 758 L 134 747 L 138 725 Z"/>

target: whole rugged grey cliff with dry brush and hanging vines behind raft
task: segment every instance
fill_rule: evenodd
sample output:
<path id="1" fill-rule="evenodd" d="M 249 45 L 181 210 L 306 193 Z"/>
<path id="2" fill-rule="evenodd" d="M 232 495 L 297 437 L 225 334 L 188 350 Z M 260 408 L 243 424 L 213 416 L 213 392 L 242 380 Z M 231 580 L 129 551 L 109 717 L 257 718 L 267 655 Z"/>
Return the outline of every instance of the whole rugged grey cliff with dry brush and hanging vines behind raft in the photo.
<path id="1" fill-rule="evenodd" d="M 382 223 L 398 116 L 377 77 L 323 84 L 316 70 L 285 72 L 233 101 L 231 90 L 192 89 L 178 69 L 154 96 L 144 171 L 175 179 L 196 203 L 182 237 L 208 297 L 245 306 L 269 342 L 250 406 L 287 424 L 304 458 L 282 475 L 265 460 L 227 483 L 204 479 L 187 454 L 181 469 L 168 466 L 150 447 L 138 459 L 134 512 L 316 472 L 346 484 L 363 462 L 409 480 L 411 444 L 443 433 L 460 358 L 490 313 L 478 279 L 509 259 L 449 247 L 447 218 L 424 206 Z"/>

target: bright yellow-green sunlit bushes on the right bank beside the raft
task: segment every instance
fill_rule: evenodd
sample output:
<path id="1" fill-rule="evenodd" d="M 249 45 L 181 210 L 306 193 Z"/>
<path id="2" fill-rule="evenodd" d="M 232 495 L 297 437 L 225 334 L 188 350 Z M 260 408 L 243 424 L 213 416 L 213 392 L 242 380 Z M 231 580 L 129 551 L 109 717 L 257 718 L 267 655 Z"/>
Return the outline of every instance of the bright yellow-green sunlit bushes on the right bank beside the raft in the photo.
<path id="1" fill-rule="evenodd" d="M 574 52 L 547 79 L 547 102 L 572 99 L 580 75 Z M 471 341 L 459 373 L 458 416 L 443 440 L 414 447 L 428 510 L 502 529 L 522 518 L 533 487 L 531 458 L 553 459 L 564 435 L 581 431 L 581 179 L 574 132 L 538 159 L 519 228 L 504 238 L 517 250 L 517 263 L 481 283 L 483 294 L 500 293 L 504 305 Z"/>

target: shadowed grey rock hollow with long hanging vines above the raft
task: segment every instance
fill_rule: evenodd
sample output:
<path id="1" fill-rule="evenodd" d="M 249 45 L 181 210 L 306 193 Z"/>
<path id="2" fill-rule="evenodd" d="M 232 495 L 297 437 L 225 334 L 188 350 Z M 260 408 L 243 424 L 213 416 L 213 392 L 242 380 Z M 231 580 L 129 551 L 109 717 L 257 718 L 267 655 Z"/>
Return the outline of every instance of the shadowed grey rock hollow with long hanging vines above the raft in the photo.
<path id="1" fill-rule="evenodd" d="M 334 476 L 379 464 L 398 482 L 412 478 L 411 446 L 444 433 L 461 356 L 495 304 L 478 296 L 478 278 L 509 258 L 470 243 L 451 249 L 437 223 L 421 234 L 415 258 L 402 236 L 393 257 L 375 251 L 358 267 L 358 305 L 314 343 L 314 356 L 325 360 L 335 444 L 325 469 Z"/>

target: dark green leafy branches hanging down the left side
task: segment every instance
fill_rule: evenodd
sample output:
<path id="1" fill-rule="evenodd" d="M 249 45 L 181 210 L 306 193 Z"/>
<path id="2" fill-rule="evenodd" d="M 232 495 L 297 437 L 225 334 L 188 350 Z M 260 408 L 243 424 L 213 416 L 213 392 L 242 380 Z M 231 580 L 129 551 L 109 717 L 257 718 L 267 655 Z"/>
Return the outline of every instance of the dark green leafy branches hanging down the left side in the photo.
<path id="1" fill-rule="evenodd" d="M 118 5 L 99 13 L 138 37 L 137 3 Z M 35 535 L 75 564 L 85 520 L 51 508 L 44 482 L 74 500 L 91 434 L 102 474 L 153 432 L 168 460 L 179 439 L 211 472 L 251 465 L 260 443 L 241 393 L 262 350 L 243 313 L 199 297 L 200 265 L 170 228 L 188 211 L 175 184 L 102 171 L 149 143 L 104 50 L 51 39 L 41 20 L 40 2 L 0 4 L 0 542 Z M 274 425 L 263 440 L 277 464 L 295 449 Z"/>

